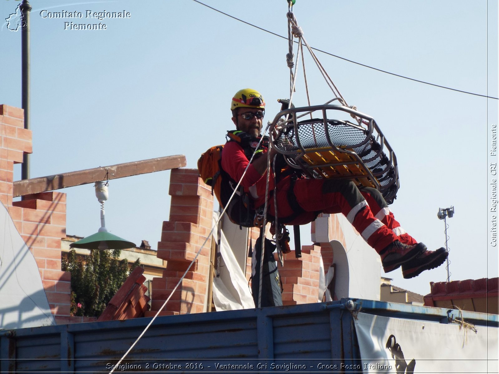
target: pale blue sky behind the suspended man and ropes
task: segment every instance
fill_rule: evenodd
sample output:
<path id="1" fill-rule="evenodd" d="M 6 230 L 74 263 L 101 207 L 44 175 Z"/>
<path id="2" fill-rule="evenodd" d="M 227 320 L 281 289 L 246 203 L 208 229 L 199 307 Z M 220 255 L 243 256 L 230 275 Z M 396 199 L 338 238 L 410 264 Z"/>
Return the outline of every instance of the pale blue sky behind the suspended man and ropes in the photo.
<path id="1" fill-rule="evenodd" d="M 206 4 L 287 36 L 285 1 L 205 0 Z M 1 0 L 0 19 L 18 1 Z M 31 1 L 31 178 L 99 166 L 202 152 L 231 130 L 229 102 L 240 88 L 259 90 L 266 119 L 289 96 L 287 40 L 193 0 Z M 498 97 L 497 1 L 297 0 L 294 14 L 313 47 L 458 90 Z M 80 11 L 81 19 L 42 18 L 41 10 Z M 127 11 L 104 19 L 105 30 L 68 30 L 95 23 L 85 11 Z M 0 103 L 21 106 L 21 34 L 2 24 Z M 451 280 L 498 276 L 490 227 L 488 149 L 498 100 L 438 88 L 317 53 L 349 105 L 371 115 L 394 149 L 401 188 L 391 205 L 402 226 L 429 248 L 444 246 L 439 207 L 448 220 Z M 310 97 L 333 97 L 310 59 Z M 294 102 L 306 104 L 303 75 Z M 497 158 L 496 158 L 497 160 Z M 20 179 L 20 167 L 16 166 Z M 168 219 L 169 172 L 113 180 L 106 226 L 155 248 Z M 87 236 L 100 225 L 92 185 L 67 193 L 67 233 Z M 307 231 L 308 228 L 304 227 Z M 309 243 L 302 231 L 302 243 Z M 421 294 L 444 281 L 442 266 L 394 283 Z"/>

